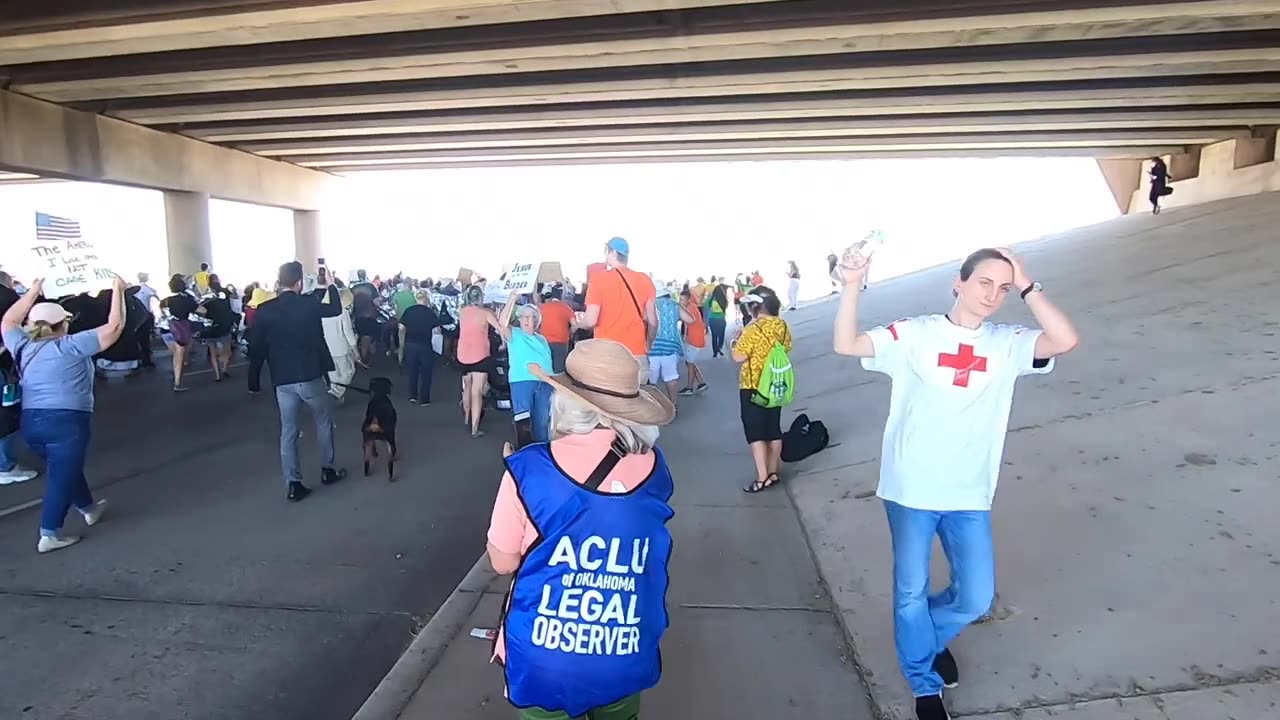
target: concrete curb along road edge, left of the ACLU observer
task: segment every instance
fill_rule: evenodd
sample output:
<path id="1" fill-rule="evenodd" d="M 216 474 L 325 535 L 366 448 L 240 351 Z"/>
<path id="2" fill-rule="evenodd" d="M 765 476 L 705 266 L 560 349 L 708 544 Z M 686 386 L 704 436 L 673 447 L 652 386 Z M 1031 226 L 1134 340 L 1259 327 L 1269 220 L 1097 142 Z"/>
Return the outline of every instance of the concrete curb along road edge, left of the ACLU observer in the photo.
<path id="1" fill-rule="evenodd" d="M 495 577 L 488 556 L 481 555 L 351 720 L 397 720 Z"/>

